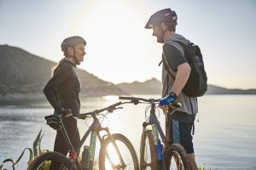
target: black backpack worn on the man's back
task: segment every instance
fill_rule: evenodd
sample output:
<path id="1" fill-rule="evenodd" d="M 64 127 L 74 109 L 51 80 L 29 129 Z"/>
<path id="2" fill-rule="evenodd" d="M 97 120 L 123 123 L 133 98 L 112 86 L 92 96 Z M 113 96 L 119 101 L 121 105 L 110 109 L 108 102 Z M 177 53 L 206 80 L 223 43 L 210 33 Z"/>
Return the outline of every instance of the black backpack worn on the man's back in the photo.
<path id="1" fill-rule="evenodd" d="M 180 44 L 184 49 L 184 56 L 187 59 L 191 71 L 189 80 L 183 88 L 183 93 L 189 97 L 200 97 L 207 92 L 207 72 L 205 71 L 204 62 L 200 48 L 194 43 L 190 42 L 185 44 L 184 42 L 173 41 Z M 168 70 L 166 59 L 162 59 L 164 68 L 173 77 L 172 73 Z"/>

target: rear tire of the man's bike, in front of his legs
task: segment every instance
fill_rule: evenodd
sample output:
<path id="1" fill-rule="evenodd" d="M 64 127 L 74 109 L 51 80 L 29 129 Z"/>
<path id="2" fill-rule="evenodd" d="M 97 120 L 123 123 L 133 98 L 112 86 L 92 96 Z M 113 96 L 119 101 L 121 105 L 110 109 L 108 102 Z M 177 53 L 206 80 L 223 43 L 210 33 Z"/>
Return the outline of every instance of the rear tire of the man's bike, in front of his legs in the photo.
<path id="1" fill-rule="evenodd" d="M 171 144 L 167 148 L 164 157 L 166 162 L 166 170 L 191 170 L 189 156 L 181 144 Z"/>

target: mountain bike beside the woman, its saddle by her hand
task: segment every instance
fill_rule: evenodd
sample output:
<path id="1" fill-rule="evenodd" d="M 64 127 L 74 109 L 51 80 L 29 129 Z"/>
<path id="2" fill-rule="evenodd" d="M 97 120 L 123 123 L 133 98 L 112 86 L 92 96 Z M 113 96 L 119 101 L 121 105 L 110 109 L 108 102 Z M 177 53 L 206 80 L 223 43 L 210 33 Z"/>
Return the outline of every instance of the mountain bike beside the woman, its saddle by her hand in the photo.
<path id="1" fill-rule="evenodd" d="M 94 169 L 96 138 L 99 139 L 101 143 L 101 148 L 99 152 L 99 161 L 98 161 L 100 170 L 105 170 L 105 169 L 106 170 L 107 169 L 138 170 L 139 164 L 137 160 L 137 154 L 130 140 L 127 139 L 122 134 L 110 133 L 108 127 L 102 127 L 101 122 L 97 118 L 97 116 L 106 117 L 108 113 L 111 113 L 117 109 L 122 109 L 122 107 L 118 107 L 119 105 L 122 105 L 122 104 L 123 104 L 122 102 L 119 102 L 101 110 L 80 114 L 78 117 L 79 119 L 85 120 L 88 117 L 92 117 L 93 122 L 91 123 L 88 130 L 84 133 L 84 136 L 81 139 L 78 147 L 75 149 L 73 148 L 73 144 L 70 142 L 70 139 L 67 136 L 65 127 L 63 126 L 62 120 L 64 119 L 64 116 L 60 116 L 60 115 L 45 116 L 45 119 L 47 120 L 47 124 L 52 123 L 51 127 L 55 127 L 56 130 L 57 129 L 61 130 L 61 133 L 64 136 L 65 142 L 69 148 L 69 153 L 68 153 L 68 156 L 64 156 L 61 153 L 55 152 L 55 151 L 45 152 L 40 156 L 36 157 L 30 163 L 28 170 L 49 169 L 49 167 L 45 168 L 45 164 L 47 163 L 49 164 L 51 161 L 55 161 L 61 164 L 60 169 L 81 170 L 82 169 L 81 162 L 78 159 L 79 150 L 84 144 L 84 141 L 87 139 L 89 134 L 90 134 L 90 146 L 88 150 L 88 156 L 86 156 L 83 170 Z M 100 114 L 103 111 L 107 111 L 107 113 Z M 99 133 L 101 131 L 106 132 L 106 134 L 102 136 Z"/>

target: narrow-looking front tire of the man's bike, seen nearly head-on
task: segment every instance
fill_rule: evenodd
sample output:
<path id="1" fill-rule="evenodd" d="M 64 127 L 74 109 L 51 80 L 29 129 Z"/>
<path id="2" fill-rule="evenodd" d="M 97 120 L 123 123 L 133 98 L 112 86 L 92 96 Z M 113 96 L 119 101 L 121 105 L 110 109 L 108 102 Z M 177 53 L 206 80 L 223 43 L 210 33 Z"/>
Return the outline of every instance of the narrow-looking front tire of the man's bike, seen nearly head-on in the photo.
<path id="1" fill-rule="evenodd" d="M 146 143 L 148 141 L 148 143 Z M 148 148 L 149 147 L 149 148 Z M 145 156 L 148 156 L 148 149 L 150 150 L 150 162 Z M 146 155 L 147 154 L 147 155 Z M 147 130 L 142 134 L 141 150 L 140 150 L 140 169 L 157 170 L 157 156 L 154 147 L 154 137 L 152 130 Z"/>

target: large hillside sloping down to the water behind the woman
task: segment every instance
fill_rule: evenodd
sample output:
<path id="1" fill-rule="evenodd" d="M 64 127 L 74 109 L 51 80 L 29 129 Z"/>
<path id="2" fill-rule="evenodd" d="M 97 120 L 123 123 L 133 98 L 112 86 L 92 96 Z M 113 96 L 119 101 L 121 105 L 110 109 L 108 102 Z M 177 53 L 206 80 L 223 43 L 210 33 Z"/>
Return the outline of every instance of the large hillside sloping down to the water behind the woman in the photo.
<path id="1" fill-rule="evenodd" d="M 0 45 L 0 95 L 43 94 L 55 62 L 23 49 Z M 123 95 L 123 90 L 84 70 L 78 70 L 83 96 Z"/>

